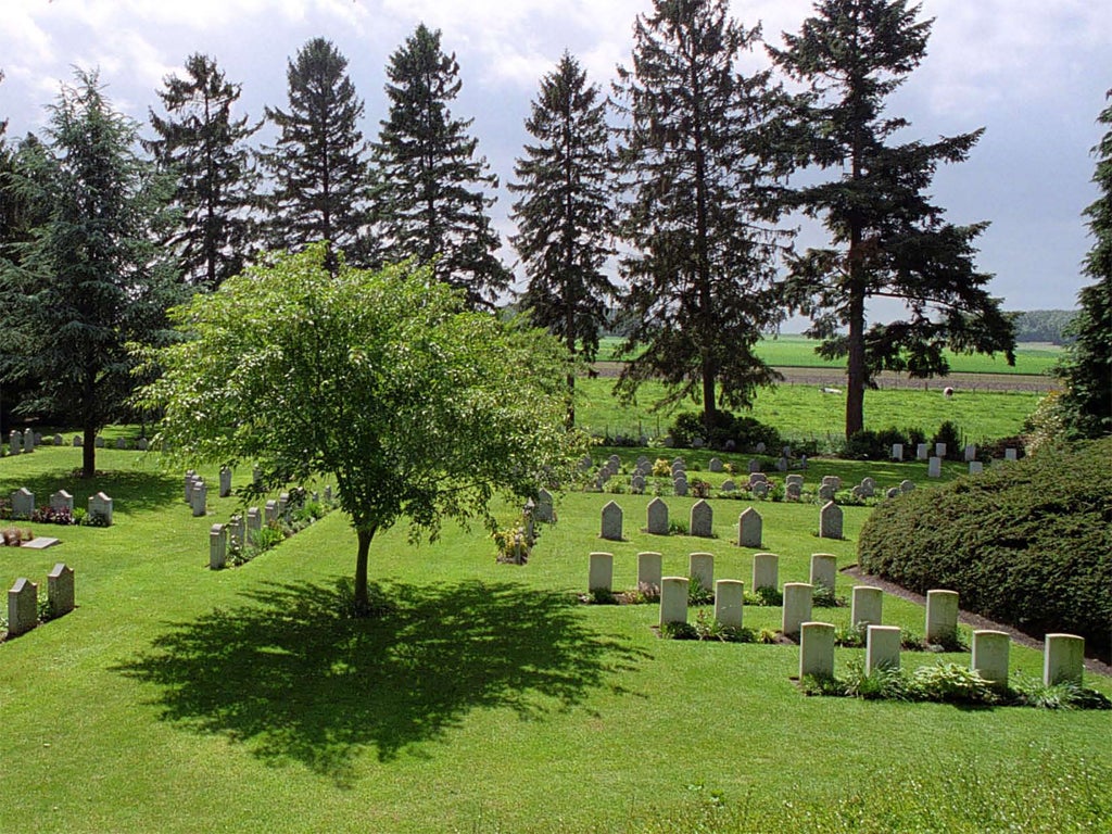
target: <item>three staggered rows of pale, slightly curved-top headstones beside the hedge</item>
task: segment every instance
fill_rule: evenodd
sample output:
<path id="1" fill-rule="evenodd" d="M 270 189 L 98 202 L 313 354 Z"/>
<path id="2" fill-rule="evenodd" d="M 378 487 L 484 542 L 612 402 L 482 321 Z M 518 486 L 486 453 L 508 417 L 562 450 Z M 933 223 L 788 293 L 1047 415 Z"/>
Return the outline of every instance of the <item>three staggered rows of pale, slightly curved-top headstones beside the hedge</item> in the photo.
<path id="1" fill-rule="evenodd" d="M 757 554 L 753 560 L 753 586 L 776 587 L 778 557 Z M 816 586 L 833 590 L 836 560 L 833 554 L 811 556 L 811 582 L 785 583 L 781 631 L 800 637 L 800 676 L 834 674 L 834 632 L 828 623 L 811 620 Z M 590 554 L 588 588 L 609 592 L 613 585 L 614 555 Z M 637 586 L 659 589 L 661 625 L 687 622 L 687 588 L 695 579 L 705 588 L 714 587 L 714 616 L 724 626 L 741 627 L 744 612 L 745 584 L 739 579 L 714 582 L 714 556 L 693 553 L 688 556 L 688 577 L 662 577 L 662 555 L 637 554 Z M 880 666 L 900 667 L 902 634 L 898 626 L 881 623 L 884 594 L 880 588 L 856 585 L 850 622 L 865 628 L 865 674 Z M 933 589 L 926 594 L 926 641 L 936 643 L 957 632 L 959 595 L 954 590 Z M 1004 632 L 973 632 L 971 668 L 985 681 L 1007 684 L 1011 638 Z M 1081 683 L 1084 668 L 1083 637 L 1048 634 L 1043 659 L 1043 682 L 1050 686 L 1062 681 Z"/>

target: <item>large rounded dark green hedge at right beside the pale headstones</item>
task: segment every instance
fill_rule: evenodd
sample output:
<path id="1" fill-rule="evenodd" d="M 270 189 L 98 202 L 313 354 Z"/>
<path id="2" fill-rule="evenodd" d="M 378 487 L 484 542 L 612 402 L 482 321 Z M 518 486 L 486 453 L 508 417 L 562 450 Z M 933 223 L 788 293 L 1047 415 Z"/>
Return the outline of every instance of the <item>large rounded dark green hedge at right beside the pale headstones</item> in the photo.
<path id="1" fill-rule="evenodd" d="M 876 508 L 861 567 L 1042 637 L 1112 654 L 1112 438 L 1041 449 Z"/>

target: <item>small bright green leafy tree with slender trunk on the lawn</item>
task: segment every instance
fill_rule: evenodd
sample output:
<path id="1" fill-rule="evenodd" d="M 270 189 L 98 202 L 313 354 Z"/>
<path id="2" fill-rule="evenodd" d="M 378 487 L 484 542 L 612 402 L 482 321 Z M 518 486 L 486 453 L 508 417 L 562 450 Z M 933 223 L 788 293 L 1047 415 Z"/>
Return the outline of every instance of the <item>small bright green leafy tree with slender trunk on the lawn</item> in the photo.
<path id="1" fill-rule="evenodd" d="M 534 495 L 578 449 L 555 338 L 467 311 L 428 267 L 337 257 L 334 277 L 324 245 L 275 256 L 173 310 L 188 338 L 148 354 L 163 373 L 140 401 L 165 413 L 173 460 L 254 461 L 270 487 L 335 478 L 366 613 L 376 533 L 490 520 L 496 494 Z"/>

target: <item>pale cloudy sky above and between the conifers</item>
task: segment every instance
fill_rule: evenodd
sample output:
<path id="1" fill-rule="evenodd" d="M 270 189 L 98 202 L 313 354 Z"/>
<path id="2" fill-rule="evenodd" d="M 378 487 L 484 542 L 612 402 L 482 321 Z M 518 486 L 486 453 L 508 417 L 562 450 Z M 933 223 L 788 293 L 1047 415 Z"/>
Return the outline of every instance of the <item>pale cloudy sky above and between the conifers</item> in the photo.
<path id="1" fill-rule="evenodd" d="M 0 0 L 0 119 L 8 137 L 38 131 L 44 106 L 72 68 L 100 70 L 113 106 L 146 128 L 156 89 L 186 57 L 217 59 L 242 85 L 241 112 L 287 106 L 287 60 L 310 38 L 331 40 L 349 60 L 366 102 L 364 133 L 385 117 L 384 68 L 418 22 L 443 30 L 459 60 L 454 111 L 474 117 L 479 152 L 502 178 L 493 215 L 503 236 L 505 183 L 527 139 L 523 121 L 539 78 L 568 49 L 608 89 L 628 64 L 632 26 L 649 0 Z M 734 0 L 766 40 L 795 32 L 804 0 Z M 1006 309 L 1068 308 L 1086 281 L 1090 247 L 1081 218 L 1096 199 L 1090 149 L 1112 87 L 1108 0 L 923 0 L 935 19 L 927 58 L 893 98 L 912 121 L 907 138 L 986 129 L 969 161 L 941 169 L 935 201 L 954 222 L 990 220 L 979 266 Z M 753 58 L 751 61 L 758 59 Z M 161 112 L 161 111 L 159 111 Z M 149 129 L 145 132 L 149 133 Z M 822 242 L 807 230 L 805 240 Z M 509 252 L 506 254 L 510 258 Z"/>

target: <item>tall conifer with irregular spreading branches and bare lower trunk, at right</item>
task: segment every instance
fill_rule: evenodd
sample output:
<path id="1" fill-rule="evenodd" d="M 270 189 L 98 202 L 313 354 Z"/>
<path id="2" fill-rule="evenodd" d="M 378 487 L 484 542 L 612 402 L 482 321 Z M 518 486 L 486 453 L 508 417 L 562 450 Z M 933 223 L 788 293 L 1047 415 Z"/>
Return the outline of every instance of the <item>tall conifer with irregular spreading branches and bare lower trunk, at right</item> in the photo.
<path id="1" fill-rule="evenodd" d="M 1011 320 L 985 289 L 974 241 L 985 224 L 954 226 L 932 205 L 942 162 L 966 159 L 982 131 L 935 142 L 890 140 L 910 127 L 886 98 L 926 53 L 930 20 L 905 0 L 820 0 L 776 63 L 808 86 L 801 97 L 802 160 L 832 179 L 796 190 L 794 205 L 821 217 L 831 246 L 791 264 L 793 307 L 812 317 L 820 353 L 846 357 L 845 434 L 864 428 L 864 394 L 883 369 L 947 373 L 945 348 L 1003 351 L 1014 364 Z M 866 330 L 871 298 L 903 301 L 906 318 Z"/>

